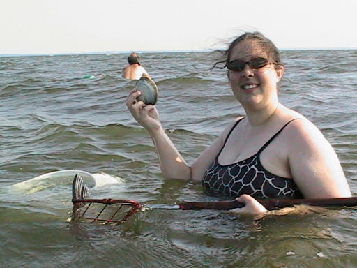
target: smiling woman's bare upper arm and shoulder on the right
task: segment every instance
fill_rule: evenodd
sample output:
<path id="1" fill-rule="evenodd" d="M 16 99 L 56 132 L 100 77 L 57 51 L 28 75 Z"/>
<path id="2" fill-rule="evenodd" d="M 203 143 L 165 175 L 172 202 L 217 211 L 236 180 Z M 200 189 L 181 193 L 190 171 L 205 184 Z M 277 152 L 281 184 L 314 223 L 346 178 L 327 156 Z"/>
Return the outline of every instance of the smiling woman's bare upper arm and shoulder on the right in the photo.
<path id="1" fill-rule="evenodd" d="M 289 167 L 305 198 L 351 196 L 340 161 L 321 131 L 307 120 L 291 123 Z"/>

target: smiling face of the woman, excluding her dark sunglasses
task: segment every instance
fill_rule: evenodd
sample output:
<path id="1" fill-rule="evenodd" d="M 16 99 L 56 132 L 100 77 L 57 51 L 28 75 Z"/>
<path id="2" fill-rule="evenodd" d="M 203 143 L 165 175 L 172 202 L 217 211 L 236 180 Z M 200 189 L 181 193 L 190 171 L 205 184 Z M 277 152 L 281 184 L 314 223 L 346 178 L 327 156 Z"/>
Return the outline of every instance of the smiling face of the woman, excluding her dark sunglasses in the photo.
<path id="1" fill-rule="evenodd" d="M 244 40 L 231 50 L 229 61 L 248 62 L 255 58 L 268 58 L 268 53 L 255 40 Z M 259 109 L 266 105 L 274 105 L 277 98 L 277 83 L 282 78 L 284 67 L 274 64 L 254 69 L 245 64 L 241 71 L 228 70 L 231 89 L 243 107 Z"/>

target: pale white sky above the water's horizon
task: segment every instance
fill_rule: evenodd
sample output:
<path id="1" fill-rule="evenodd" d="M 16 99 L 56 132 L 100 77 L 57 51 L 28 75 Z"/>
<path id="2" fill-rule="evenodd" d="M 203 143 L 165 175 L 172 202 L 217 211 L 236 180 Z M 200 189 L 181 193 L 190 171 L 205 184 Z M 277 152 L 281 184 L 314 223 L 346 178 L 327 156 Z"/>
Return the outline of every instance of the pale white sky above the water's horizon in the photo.
<path id="1" fill-rule="evenodd" d="M 211 50 L 242 31 L 357 48 L 356 13 L 356 0 L 0 0 L 0 54 Z"/>

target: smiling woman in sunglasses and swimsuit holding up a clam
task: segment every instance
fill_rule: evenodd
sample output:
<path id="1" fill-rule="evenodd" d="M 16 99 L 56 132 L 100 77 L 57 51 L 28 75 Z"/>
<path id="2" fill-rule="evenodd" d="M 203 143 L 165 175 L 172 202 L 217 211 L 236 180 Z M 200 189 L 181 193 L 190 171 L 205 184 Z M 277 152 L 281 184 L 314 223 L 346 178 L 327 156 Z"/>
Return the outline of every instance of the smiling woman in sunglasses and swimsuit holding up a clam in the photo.
<path id="1" fill-rule="evenodd" d="M 303 115 L 278 101 L 284 74 L 278 49 L 260 33 L 246 33 L 229 45 L 225 60 L 231 90 L 245 110 L 188 165 L 172 144 L 152 105 L 127 106 L 151 135 L 162 175 L 202 181 L 211 191 L 238 197 L 236 211 L 257 214 L 266 209 L 255 198 L 350 197 L 349 185 L 333 147 Z"/>

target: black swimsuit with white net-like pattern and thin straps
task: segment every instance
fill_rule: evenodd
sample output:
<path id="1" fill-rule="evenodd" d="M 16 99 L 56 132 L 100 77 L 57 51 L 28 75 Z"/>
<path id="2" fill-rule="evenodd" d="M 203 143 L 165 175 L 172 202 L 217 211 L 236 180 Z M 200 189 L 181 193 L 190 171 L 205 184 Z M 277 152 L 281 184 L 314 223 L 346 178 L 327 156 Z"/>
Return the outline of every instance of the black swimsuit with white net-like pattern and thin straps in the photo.
<path id="1" fill-rule="evenodd" d="M 231 128 L 222 149 L 225 147 L 229 135 L 231 135 L 231 132 L 241 120 L 242 119 L 238 120 L 233 128 Z M 220 156 L 221 149 L 212 165 L 207 169 L 206 174 L 204 174 L 202 185 L 208 191 L 218 191 L 232 196 L 247 194 L 254 198 L 302 198 L 303 195 L 298 190 L 293 179 L 271 174 L 260 162 L 261 151 L 263 151 L 291 121 L 287 122 L 278 133 L 275 133 L 275 135 L 259 149 L 257 154 L 243 161 L 230 165 L 220 165 L 218 163 L 218 156 Z"/>

